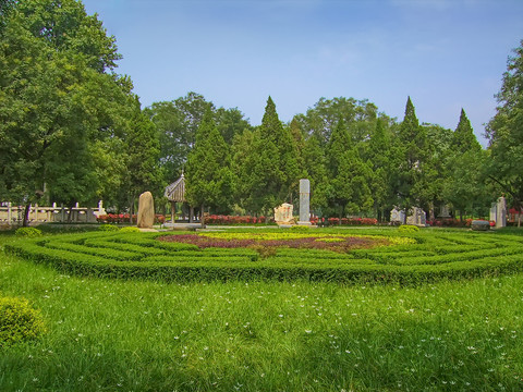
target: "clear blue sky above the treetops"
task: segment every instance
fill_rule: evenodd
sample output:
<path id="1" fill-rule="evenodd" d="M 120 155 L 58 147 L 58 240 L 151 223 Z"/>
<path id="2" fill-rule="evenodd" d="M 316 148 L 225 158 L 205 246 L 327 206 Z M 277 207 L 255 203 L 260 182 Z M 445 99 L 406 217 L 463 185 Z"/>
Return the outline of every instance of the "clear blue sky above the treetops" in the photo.
<path id="1" fill-rule="evenodd" d="M 280 120 L 320 97 L 368 99 L 403 119 L 455 128 L 464 108 L 482 144 L 523 0 L 84 0 L 98 13 L 142 105 L 196 91 L 253 125 L 267 97 Z"/>

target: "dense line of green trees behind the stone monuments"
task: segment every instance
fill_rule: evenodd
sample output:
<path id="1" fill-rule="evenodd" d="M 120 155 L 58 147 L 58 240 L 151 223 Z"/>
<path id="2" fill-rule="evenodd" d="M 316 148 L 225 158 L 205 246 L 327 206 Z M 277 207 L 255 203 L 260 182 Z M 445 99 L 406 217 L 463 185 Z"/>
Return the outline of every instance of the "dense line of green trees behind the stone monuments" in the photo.
<path id="1" fill-rule="evenodd" d="M 258 126 L 196 93 L 142 109 L 115 71 L 114 37 L 81 2 L 0 0 L 0 11 L 1 200 L 104 199 L 123 211 L 148 189 L 162 209 L 184 170 L 188 200 L 216 213 L 268 215 L 296 200 L 302 177 L 323 217 L 384 220 L 393 206 L 434 216 L 443 205 L 486 216 L 501 193 L 521 207 L 522 46 L 483 149 L 464 110 L 455 130 L 419 124 L 410 98 L 401 121 L 345 97 L 320 98 L 289 123 L 269 97 Z"/>

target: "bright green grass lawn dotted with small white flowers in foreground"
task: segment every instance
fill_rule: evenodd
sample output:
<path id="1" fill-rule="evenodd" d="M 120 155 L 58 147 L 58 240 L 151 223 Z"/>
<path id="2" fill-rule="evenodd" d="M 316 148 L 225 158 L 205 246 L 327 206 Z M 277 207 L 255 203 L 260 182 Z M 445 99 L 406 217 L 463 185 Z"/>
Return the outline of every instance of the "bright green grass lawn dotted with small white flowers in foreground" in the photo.
<path id="1" fill-rule="evenodd" d="M 522 274 L 166 284 L 0 254 L 0 293 L 49 330 L 0 352 L 0 391 L 523 390 Z"/>

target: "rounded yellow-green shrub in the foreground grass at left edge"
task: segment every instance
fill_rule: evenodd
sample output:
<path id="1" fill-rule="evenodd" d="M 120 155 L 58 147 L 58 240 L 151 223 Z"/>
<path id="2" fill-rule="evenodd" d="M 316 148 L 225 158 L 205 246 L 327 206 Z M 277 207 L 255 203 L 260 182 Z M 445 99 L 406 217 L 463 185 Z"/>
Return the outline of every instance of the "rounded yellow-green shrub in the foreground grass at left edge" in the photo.
<path id="1" fill-rule="evenodd" d="M 45 331 L 40 311 L 26 299 L 0 297 L 0 347 L 36 339 Z"/>

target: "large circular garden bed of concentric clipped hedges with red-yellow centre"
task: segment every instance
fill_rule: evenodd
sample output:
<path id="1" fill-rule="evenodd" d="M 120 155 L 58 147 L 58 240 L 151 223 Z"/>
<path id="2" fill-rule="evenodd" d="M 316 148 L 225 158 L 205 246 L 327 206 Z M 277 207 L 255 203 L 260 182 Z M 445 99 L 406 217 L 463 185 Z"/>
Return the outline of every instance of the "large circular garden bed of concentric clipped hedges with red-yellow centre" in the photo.
<path id="1" fill-rule="evenodd" d="M 163 238 L 162 238 L 163 237 Z M 83 233 L 5 245 L 66 273 L 160 281 L 421 283 L 523 270 L 523 237 L 422 230 Z"/>

